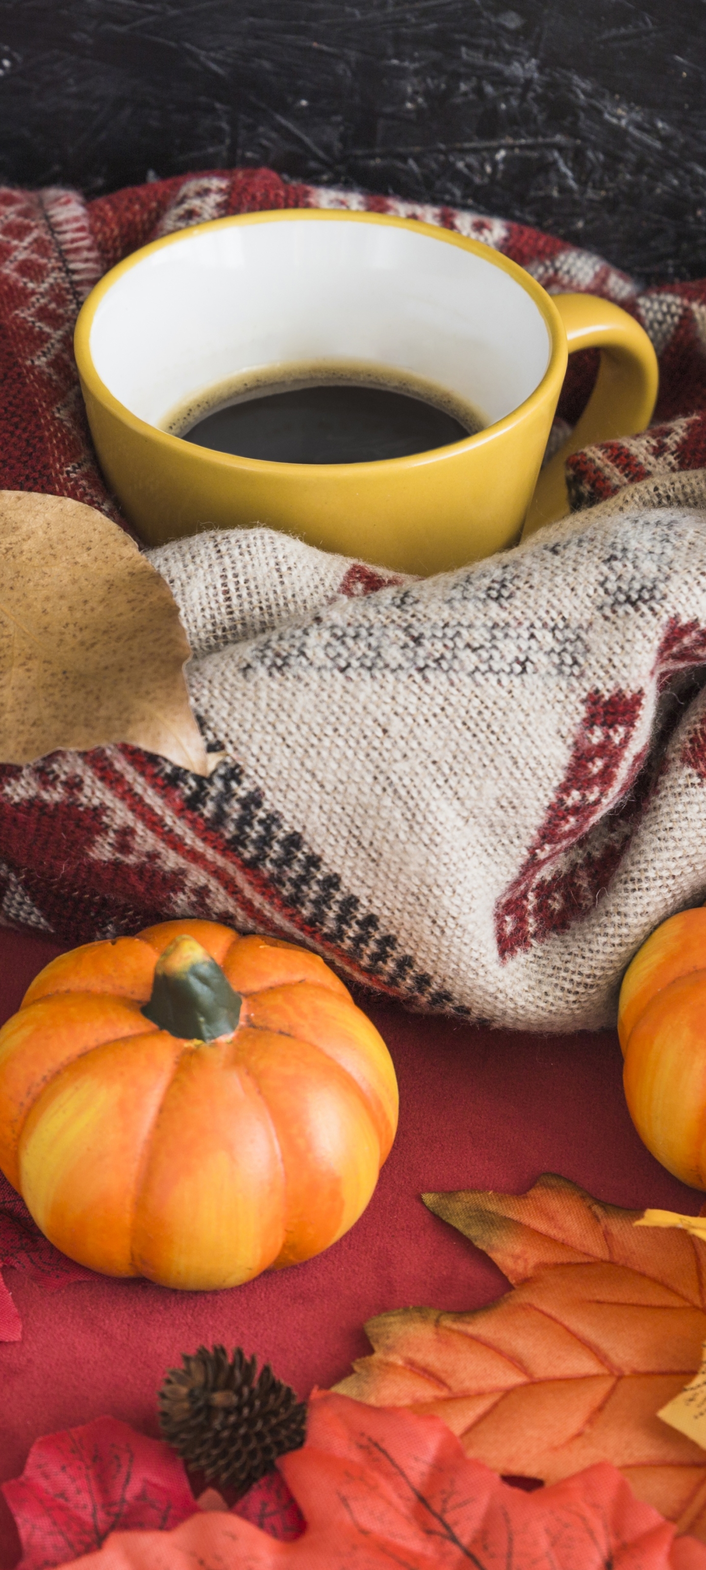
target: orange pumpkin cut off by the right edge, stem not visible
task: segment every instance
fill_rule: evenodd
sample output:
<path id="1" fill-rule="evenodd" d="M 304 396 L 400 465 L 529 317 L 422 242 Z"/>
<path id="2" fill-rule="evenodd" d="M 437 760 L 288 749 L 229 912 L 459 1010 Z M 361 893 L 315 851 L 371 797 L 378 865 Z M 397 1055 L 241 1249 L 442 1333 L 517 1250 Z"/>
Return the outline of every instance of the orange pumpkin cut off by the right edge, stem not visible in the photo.
<path id="1" fill-rule="evenodd" d="M 706 907 L 671 915 L 637 951 L 618 1036 L 640 1138 L 675 1178 L 706 1188 Z"/>

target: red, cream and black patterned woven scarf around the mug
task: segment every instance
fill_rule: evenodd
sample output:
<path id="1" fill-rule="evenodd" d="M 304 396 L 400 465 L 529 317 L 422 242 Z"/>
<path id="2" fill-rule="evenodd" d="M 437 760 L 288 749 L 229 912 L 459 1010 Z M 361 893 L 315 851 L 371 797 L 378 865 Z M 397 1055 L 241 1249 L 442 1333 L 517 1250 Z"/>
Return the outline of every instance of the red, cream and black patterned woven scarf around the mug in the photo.
<path id="1" fill-rule="evenodd" d="M 132 747 L 2 768 L 0 918 L 85 942 L 207 915 L 308 942 L 417 1008 L 612 1024 L 637 945 L 706 887 L 706 284 L 640 294 L 519 225 L 262 170 L 88 204 L 5 190 L 0 485 L 122 521 L 71 353 L 80 301 L 149 239 L 286 206 L 441 223 L 549 290 L 617 300 L 661 358 L 656 421 L 570 460 L 568 520 L 439 578 L 267 529 L 151 551 L 223 761 L 209 780 Z M 593 377 L 573 356 L 563 425 Z"/>

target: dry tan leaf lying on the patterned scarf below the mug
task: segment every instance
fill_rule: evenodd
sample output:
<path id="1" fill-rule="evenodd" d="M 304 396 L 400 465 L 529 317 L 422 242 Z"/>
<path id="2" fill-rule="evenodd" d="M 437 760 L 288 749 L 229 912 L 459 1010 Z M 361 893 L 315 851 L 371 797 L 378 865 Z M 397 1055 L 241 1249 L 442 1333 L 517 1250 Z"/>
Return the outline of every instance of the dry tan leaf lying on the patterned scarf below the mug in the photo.
<path id="1" fill-rule="evenodd" d="M 129 741 L 209 772 L 166 582 L 93 507 L 0 491 L 0 761 Z"/>

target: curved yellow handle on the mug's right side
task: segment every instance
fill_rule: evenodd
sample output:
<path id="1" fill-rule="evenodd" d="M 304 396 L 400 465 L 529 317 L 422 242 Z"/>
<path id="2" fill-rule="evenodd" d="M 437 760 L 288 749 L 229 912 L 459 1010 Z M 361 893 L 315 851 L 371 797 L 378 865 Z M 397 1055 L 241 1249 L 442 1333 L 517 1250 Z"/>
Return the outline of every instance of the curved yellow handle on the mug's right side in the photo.
<path id="1" fill-rule="evenodd" d="M 628 311 L 599 295 L 552 295 L 552 300 L 566 330 L 570 355 L 577 349 L 599 349 L 601 364 L 577 425 L 540 473 L 522 540 L 544 523 L 566 517 L 566 458 L 596 441 L 645 430 L 657 399 L 657 356 L 645 330 Z"/>

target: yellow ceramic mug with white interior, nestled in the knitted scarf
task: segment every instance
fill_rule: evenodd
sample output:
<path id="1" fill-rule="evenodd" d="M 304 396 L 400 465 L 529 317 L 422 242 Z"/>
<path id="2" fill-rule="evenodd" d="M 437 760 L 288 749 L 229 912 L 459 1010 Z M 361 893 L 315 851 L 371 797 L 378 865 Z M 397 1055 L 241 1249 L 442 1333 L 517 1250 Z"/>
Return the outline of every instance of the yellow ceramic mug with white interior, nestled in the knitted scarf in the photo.
<path id="1" fill-rule="evenodd" d="M 566 355 L 588 347 L 596 388 L 540 474 Z M 359 212 L 257 212 L 155 240 L 96 286 L 75 358 L 100 466 L 149 545 L 260 523 L 420 575 L 562 517 L 568 452 L 642 430 L 657 394 L 653 345 L 618 306 L 551 297 L 485 245 Z M 435 382 L 485 427 L 334 465 L 234 457 L 163 429 L 238 372 L 340 360 Z"/>

